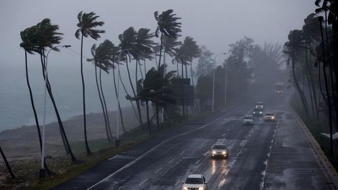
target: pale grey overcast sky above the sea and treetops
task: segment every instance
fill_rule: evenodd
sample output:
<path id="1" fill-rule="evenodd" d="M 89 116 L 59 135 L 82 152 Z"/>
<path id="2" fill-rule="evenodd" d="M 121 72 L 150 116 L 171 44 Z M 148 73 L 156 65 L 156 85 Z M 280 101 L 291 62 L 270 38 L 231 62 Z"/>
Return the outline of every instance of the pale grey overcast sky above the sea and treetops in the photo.
<path id="1" fill-rule="evenodd" d="M 156 28 L 155 11 L 173 9 L 182 22 L 182 37 L 192 36 L 199 45 L 206 45 L 214 53 L 227 52 L 229 44 L 244 35 L 255 43 L 287 40 L 289 30 L 301 28 L 304 18 L 314 12 L 314 0 L 125 0 L 125 1 L 0 1 L 1 64 L 18 64 L 24 60 L 19 48 L 20 30 L 50 18 L 64 33 L 62 44 L 70 44 L 80 51 L 80 41 L 74 37 L 77 14 L 93 11 L 105 22 L 106 31 L 98 42 L 85 39 L 85 56 L 90 56 L 93 43 L 105 39 L 118 44 L 117 36 L 129 26 L 135 29 Z M 156 39 L 158 40 L 158 39 Z M 61 53 L 60 53 L 61 54 Z M 62 62 L 69 64 L 73 54 L 62 53 Z M 55 55 L 54 55 L 55 56 Z M 69 65 L 68 65 L 69 66 Z M 76 65 L 78 66 L 78 65 Z"/>

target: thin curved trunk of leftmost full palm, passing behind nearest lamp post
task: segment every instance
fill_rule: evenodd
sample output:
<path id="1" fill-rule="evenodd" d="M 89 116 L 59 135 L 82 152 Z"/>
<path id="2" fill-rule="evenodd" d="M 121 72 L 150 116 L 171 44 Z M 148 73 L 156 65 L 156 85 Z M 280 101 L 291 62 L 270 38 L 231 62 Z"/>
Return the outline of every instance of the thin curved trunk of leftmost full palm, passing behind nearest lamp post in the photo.
<path id="1" fill-rule="evenodd" d="M 37 136 L 39 137 L 39 143 L 40 143 L 40 151 L 42 153 L 42 138 L 41 138 L 41 132 L 40 132 L 40 125 L 39 125 L 39 120 L 37 119 L 37 113 L 34 105 L 34 100 L 33 100 L 33 94 L 32 90 L 30 88 L 29 84 L 29 77 L 28 77 L 28 65 L 27 65 L 27 51 L 25 51 L 25 67 L 26 67 L 26 82 L 29 90 L 29 97 L 30 97 L 30 103 L 32 105 L 33 113 L 34 113 L 34 119 L 35 119 L 35 124 L 36 124 L 36 129 L 37 129 Z M 54 175 L 55 173 L 50 171 L 47 167 L 46 162 L 44 162 L 45 169 L 48 173 L 48 175 Z"/>

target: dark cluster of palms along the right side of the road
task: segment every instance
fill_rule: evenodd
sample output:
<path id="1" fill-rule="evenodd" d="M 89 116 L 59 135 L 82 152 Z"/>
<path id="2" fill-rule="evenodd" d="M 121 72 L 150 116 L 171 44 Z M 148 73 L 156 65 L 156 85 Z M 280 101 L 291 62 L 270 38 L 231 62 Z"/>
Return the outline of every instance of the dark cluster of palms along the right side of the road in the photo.
<path id="1" fill-rule="evenodd" d="M 307 116 L 329 119 L 330 153 L 333 155 L 332 128 L 338 131 L 338 6 L 333 0 L 317 0 L 320 7 L 310 14 L 301 30 L 291 30 L 284 53 L 291 63 L 290 82 L 302 100 Z M 324 16 L 317 14 L 324 13 Z M 302 85 L 303 83 L 303 85 Z"/>

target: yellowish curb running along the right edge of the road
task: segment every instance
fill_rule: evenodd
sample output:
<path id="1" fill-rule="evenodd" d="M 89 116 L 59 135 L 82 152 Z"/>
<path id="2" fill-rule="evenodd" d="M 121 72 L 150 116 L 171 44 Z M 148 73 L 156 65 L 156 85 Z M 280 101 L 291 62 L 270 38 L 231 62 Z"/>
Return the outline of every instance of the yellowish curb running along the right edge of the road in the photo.
<path id="1" fill-rule="evenodd" d="M 315 139 L 315 137 L 312 135 L 308 127 L 305 125 L 301 117 L 299 117 L 298 113 L 293 109 L 293 107 L 289 104 L 288 108 L 290 112 L 292 113 L 293 117 L 296 119 L 296 121 L 299 123 L 299 126 L 301 127 L 303 133 L 305 134 L 309 146 L 313 150 L 314 156 L 316 160 L 319 162 L 320 166 L 324 170 L 326 177 L 331 183 L 331 186 L 333 189 L 338 188 L 338 173 L 326 157 L 324 151 L 321 149 L 319 143 Z"/>

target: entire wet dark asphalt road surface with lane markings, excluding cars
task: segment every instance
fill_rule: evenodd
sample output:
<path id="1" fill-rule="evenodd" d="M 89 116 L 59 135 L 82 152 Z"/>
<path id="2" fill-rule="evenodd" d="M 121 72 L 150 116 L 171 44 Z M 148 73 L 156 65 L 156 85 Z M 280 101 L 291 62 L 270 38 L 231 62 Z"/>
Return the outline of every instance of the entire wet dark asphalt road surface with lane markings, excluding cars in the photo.
<path id="1" fill-rule="evenodd" d="M 276 122 L 242 117 L 263 101 Z M 189 174 L 204 174 L 208 189 L 335 189 L 287 107 L 286 95 L 253 97 L 196 124 L 152 137 L 56 189 L 181 189 Z M 226 139 L 228 159 L 211 159 L 210 147 Z"/>

